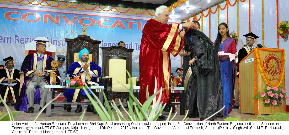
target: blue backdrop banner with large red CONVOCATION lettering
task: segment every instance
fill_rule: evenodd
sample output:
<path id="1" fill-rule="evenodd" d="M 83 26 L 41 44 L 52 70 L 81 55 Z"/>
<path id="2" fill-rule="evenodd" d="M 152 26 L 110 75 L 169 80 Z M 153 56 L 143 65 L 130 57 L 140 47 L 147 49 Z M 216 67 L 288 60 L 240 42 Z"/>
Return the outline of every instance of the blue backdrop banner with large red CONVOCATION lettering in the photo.
<path id="1" fill-rule="evenodd" d="M 2 7 L 1 7 L 2 6 Z M 131 19 L 122 15 L 118 17 L 103 16 L 96 12 L 68 12 L 67 10 L 32 10 L 25 6 L 19 8 L 0 6 L 0 59 L 12 56 L 16 59 L 15 68 L 20 69 L 24 60 L 25 43 L 36 37 L 46 37 L 56 46 L 55 57 L 66 55 L 64 38 L 75 38 L 81 35 L 83 26 L 87 27 L 90 38 L 100 40 L 100 47 L 118 45 L 125 42 L 125 47 L 134 49 L 132 54 L 132 76 L 139 77 L 139 50 L 142 29 L 146 19 Z M 63 11 L 63 12 L 59 12 Z M 65 11 L 65 12 L 64 12 Z M 101 53 L 99 65 L 101 67 Z M 181 67 L 181 58 L 171 57 L 172 71 Z M 4 61 L 0 64 L 4 65 Z M 176 73 L 174 73 L 177 76 Z"/>

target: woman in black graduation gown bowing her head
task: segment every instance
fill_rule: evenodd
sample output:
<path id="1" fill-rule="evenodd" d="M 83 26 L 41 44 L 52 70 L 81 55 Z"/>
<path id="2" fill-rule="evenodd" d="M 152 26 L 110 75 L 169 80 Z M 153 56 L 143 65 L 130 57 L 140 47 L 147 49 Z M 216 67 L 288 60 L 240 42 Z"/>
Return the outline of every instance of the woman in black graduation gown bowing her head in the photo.
<path id="1" fill-rule="evenodd" d="M 197 117 L 199 114 L 202 121 L 223 107 L 220 62 L 214 44 L 203 32 L 189 29 L 184 40 L 192 49 L 192 59 L 188 63 L 192 75 L 186 88 L 188 117 Z M 223 111 L 210 120 L 222 115 Z"/>

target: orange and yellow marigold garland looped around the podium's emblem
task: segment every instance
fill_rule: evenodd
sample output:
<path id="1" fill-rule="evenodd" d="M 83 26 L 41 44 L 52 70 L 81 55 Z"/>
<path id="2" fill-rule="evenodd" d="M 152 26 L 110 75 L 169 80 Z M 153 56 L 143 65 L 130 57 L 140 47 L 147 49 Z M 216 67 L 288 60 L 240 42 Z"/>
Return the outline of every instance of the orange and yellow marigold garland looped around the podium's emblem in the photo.
<path id="1" fill-rule="evenodd" d="M 260 52 L 259 50 L 264 50 L 264 51 L 269 51 L 269 52 L 282 52 L 282 56 L 281 56 L 281 73 L 280 73 L 280 76 L 279 76 L 279 79 L 278 79 L 278 82 L 276 84 L 272 84 L 267 76 L 266 76 L 266 73 L 264 71 L 264 67 L 262 65 L 262 62 L 261 62 L 261 57 L 260 57 Z M 284 49 L 279 49 L 279 50 L 273 50 L 273 49 L 268 49 L 268 48 L 255 48 L 255 51 L 256 51 L 256 57 L 257 57 L 257 64 L 258 64 L 258 68 L 260 70 L 260 73 L 261 73 L 261 76 L 264 80 L 264 82 L 266 83 L 266 85 L 270 86 L 270 87 L 279 87 L 284 79 L 284 74 L 285 74 L 285 70 L 284 70 L 284 67 L 285 67 L 285 51 Z"/>

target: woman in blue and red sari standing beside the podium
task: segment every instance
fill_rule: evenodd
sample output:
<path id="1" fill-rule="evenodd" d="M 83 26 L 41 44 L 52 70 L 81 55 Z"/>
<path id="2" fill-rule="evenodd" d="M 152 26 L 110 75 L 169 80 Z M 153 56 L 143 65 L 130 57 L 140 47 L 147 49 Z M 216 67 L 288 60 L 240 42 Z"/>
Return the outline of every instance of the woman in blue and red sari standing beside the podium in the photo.
<path id="1" fill-rule="evenodd" d="M 236 41 L 230 37 L 229 28 L 226 23 L 221 23 L 218 26 L 215 49 L 218 52 L 231 53 L 235 54 L 235 57 L 238 57 L 236 54 Z M 236 61 L 230 61 L 229 55 L 221 55 L 219 56 L 219 60 L 223 85 L 223 105 L 225 105 L 223 118 L 226 118 L 232 111 L 232 99 L 234 99 L 236 81 Z"/>

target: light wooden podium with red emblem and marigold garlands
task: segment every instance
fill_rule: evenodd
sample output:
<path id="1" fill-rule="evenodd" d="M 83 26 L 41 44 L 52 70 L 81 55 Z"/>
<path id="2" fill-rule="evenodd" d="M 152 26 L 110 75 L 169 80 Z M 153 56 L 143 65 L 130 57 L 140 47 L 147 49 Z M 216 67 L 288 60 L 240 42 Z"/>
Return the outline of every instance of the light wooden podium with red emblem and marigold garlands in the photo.
<path id="1" fill-rule="evenodd" d="M 274 114 L 277 112 L 286 113 L 285 101 L 279 107 L 264 107 L 263 101 L 253 99 L 255 94 L 263 91 L 266 81 L 267 84 L 271 83 L 270 87 L 280 85 L 280 88 L 284 88 L 284 56 L 284 49 L 256 48 L 240 62 L 239 87 L 241 113 L 255 115 Z"/>

